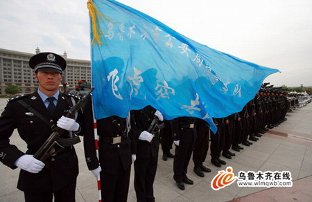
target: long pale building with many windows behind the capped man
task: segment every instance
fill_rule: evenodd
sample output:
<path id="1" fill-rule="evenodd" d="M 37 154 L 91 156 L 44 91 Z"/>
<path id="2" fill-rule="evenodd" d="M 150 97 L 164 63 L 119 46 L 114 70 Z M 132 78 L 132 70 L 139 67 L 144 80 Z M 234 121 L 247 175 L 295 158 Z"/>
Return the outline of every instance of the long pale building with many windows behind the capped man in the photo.
<path id="1" fill-rule="evenodd" d="M 37 48 L 35 53 L 40 53 Z M 21 93 L 31 93 L 37 89 L 33 69 L 28 61 L 35 54 L 22 53 L 15 50 L 0 48 L 0 95 L 6 94 L 7 84 L 15 84 L 21 89 Z M 63 73 L 62 82 L 67 82 L 67 88 L 75 88 L 78 80 L 91 82 L 91 64 L 89 60 L 69 59 L 64 52 L 62 57 L 67 61 L 67 68 Z M 62 84 L 60 85 L 62 87 Z"/>

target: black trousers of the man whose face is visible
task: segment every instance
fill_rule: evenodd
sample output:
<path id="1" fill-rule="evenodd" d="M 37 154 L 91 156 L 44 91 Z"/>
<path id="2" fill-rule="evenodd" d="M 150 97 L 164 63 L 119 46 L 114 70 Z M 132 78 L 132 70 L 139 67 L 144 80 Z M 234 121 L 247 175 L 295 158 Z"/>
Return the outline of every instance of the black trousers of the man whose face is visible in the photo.
<path id="1" fill-rule="evenodd" d="M 66 187 L 54 192 L 24 192 L 25 202 L 52 202 L 53 196 L 55 202 L 75 202 L 76 179 Z"/>

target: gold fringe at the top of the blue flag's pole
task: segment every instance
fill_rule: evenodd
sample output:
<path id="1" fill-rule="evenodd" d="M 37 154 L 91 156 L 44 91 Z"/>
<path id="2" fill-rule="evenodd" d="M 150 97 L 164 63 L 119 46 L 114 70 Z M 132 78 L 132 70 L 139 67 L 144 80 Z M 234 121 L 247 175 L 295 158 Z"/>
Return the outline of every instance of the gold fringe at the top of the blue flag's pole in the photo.
<path id="1" fill-rule="evenodd" d="M 105 17 L 102 12 L 100 12 L 95 6 L 92 0 L 87 1 L 87 8 L 89 10 L 89 15 L 91 17 L 91 24 L 92 24 L 92 32 L 93 32 L 93 39 L 92 39 L 92 44 L 100 44 L 102 45 L 101 42 L 101 29 L 98 27 L 98 20 L 99 17 L 103 17 L 107 21 L 112 22 L 110 19 Z"/>

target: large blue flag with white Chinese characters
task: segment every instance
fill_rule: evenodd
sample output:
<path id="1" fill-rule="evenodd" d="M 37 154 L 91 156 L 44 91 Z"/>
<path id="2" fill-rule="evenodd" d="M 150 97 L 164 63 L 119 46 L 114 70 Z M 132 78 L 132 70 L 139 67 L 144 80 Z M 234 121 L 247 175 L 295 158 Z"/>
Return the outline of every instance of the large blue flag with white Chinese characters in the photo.
<path id="1" fill-rule="evenodd" d="M 103 15 L 92 19 L 101 44 L 92 44 L 94 116 L 128 116 L 153 106 L 166 120 L 206 120 L 239 112 L 277 69 L 199 44 L 138 10 L 113 0 L 94 0 Z"/>

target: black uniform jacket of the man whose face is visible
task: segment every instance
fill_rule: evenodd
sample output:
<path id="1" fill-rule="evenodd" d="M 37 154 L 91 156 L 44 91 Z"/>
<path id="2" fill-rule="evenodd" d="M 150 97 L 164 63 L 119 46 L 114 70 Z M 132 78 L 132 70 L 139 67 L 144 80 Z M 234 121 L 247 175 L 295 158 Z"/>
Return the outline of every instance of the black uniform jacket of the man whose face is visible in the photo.
<path id="1" fill-rule="evenodd" d="M 12 169 L 17 168 L 14 165 L 15 161 L 25 154 L 15 145 L 10 145 L 9 138 L 12 136 L 14 129 L 17 129 L 19 136 L 27 144 L 28 151 L 26 154 L 35 154 L 52 132 L 49 125 L 21 106 L 17 102 L 19 99 L 31 105 L 47 120 L 50 120 L 53 125 L 56 125 L 61 116 L 68 113 L 69 106 L 72 105 L 70 95 L 60 93 L 58 104 L 55 107 L 53 116 L 51 116 L 37 91 L 31 95 L 24 95 L 8 102 L 0 117 L 0 161 Z M 78 100 L 75 102 L 78 102 Z M 79 117 L 78 115 L 78 123 L 80 123 Z M 80 132 L 78 135 L 81 134 Z M 68 133 L 61 137 L 67 138 Z M 67 148 L 66 151 L 53 156 L 53 158 L 48 158 L 49 169 L 44 167 L 37 174 L 21 169 L 17 188 L 26 192 L 50 192 L 58 190 L 76 179 L 78 176 L 76 152 L 73 147 Z"/>

